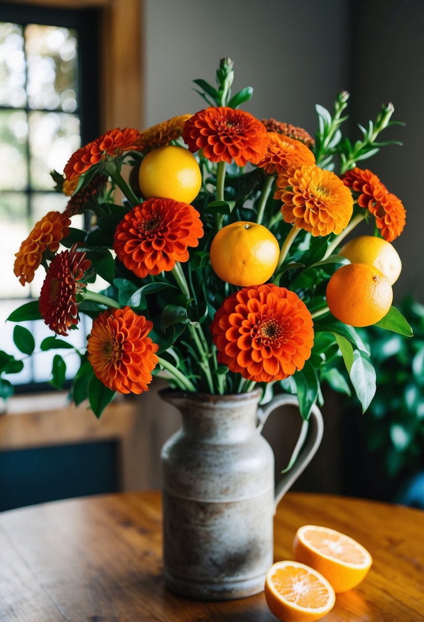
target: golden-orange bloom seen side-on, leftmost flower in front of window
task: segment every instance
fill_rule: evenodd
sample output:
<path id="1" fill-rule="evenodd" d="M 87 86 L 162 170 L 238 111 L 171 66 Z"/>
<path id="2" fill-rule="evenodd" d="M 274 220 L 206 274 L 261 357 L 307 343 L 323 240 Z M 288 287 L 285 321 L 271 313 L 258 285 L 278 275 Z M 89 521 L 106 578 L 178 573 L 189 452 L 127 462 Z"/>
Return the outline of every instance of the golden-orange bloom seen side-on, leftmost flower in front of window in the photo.
<path id="1" fill-rule="evenodd" d="M 21 285 L 30 283 L 34 279 L 34 273 L 41 263 L 45 250 L 55 253 L 59 248 L 62 238 L 66 238 L 69 233 L 68 214 L 59 211 L 49 211 L 31 231 L 27 239 L 21 244 L 21 248 L 16 253 L 14 264 L 14 274 L 19 278 Z"/>

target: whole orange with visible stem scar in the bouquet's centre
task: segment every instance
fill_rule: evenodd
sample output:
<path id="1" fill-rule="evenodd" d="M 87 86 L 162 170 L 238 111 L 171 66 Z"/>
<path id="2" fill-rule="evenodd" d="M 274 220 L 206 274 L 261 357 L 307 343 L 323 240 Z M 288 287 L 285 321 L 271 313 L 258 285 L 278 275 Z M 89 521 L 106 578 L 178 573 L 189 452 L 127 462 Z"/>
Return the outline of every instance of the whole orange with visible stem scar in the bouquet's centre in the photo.
<path id="1" fill-rule="evenodd" d="M 241 287 L 268 281 L 279 256 L 279 243 L 272 233 L 245 220 L 220 229 L 210 248 L 211 264 L 219 278 Z"/>

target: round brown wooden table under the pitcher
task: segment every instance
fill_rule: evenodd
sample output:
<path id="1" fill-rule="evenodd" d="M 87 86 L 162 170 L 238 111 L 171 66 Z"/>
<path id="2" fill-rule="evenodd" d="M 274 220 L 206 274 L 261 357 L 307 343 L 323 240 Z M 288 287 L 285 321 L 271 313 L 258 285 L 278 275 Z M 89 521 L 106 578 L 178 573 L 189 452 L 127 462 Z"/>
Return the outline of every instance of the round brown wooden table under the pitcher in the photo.
<path id="1" fill-rule="evenodd" d="M 356 538 L 374 557 L 325 622 L 424 621 L 424 512 L 290 493 L 275 518 L 275 559 L 292 559 L 311 523 Z M 275 622 L 264 594 L 190 601 L 162 579 L 159 493 L 70 499 L 0 514 L 1 622 Z"/>

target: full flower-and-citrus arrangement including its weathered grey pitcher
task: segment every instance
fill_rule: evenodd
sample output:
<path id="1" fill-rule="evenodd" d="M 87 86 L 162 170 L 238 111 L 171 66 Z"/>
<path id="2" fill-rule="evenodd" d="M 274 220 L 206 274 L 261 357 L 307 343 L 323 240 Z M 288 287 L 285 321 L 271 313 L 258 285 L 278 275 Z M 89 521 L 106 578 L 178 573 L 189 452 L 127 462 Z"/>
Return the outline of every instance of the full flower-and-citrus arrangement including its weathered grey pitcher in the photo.
<path id="1" fill-rule="evenodd" d="M 195 80 L 207 108 L 142 132 L 108 131 L 63 175 L 53 172 L 70 199 L 22 242 L 22 285 L 41 264 L 46 276 L 39 300 L 9 320 L 17 348 L 33 355 L 19 322 L 44 320 L 55 335 L 40 350 L 70 351 L 80 315 L 92 319 L 70 396 L 88 399 L 98 417 L 116 392 L 167 379 L 174 390 L 162 397 L 180 408 L 183 427 L 162 448 L 165 582 L 223 599 L 264 588 L 275 504 L 321 440 L 321 383 L 353 386 L 364 411 L 371 402 L 376 373 L 356 327 L 412 332 L 392 307 L 400 259 L 391 242 L 405 210 L 356 166 L 393 142 L 379 142 L 393 106 L 351 142 L 341 132 L 349 95 L 339 93 L 332 114 L 316 106 L 313 139 L 240 110 L 252 89 L 231 95 L 228 58 L 216 82 Z M 77 214 L 83 229 L 71 226 Z M 342 245 L 362 220 L 371 235 Z M 7 353 L 0 363 L 2 375 L 22 367 Z M 64 379 L 57 353 L 52 384 Z M 11 391 L 7 379 L 1 388 Z M 298 405 L 305 422 L 274 491 L 274 456 L 259 432 L 284 404 Z"/>

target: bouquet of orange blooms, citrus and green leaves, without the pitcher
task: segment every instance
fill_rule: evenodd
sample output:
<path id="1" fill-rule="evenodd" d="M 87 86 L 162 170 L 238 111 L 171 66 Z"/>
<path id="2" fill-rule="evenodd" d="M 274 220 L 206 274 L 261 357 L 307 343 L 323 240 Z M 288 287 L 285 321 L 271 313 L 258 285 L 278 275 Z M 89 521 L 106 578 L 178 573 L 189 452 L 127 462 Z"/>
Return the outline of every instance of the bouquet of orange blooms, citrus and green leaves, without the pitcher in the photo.
<path id="1" fill-rule="evenodd" d="M 382 106 L 351 142 L 341 131 L 344 91 L 333 113 L 316 106 L 313 139 L 240 110 L 252 88 L 231 95 L 228 58 L 216 82 L 195 80 L 207 108 L 142 132 L 108 131 L 78 149 L 63 175 L 52 173 L 70 199 L 16 253 L 22 285 L 40 265 L 46 276 L 39 300 L 8 319 L 44 320 L 55 335 L 42 350 L 60 351 L 70 348 L 66 337 L 80 314 L 92 318 L 87 348 L 75 352 L 80 368 L 70 396 L 76 404 L 88 398 L 97 416 L 115 392 L 146 391 L 153 374 L 188 392 L 238 394 L 259 385 L 263 402 L 274 391 L 297 394 L 304 419 L 322 404 L 321 383 L 346 393 L 351 384 L 365 411 L 376 377 L 354 327 L 411 334 L 391 306 L 397 274 L 390 266 L 399 274 L 400 260 L 390 243 L 405 210 L 376 175 L 357 167 L 394 142 L 379 142 L 396 123 L 394 108 Z M 73 228 L 76 214 L 84 215 L 84 230 Z M 350 254 L 349 244 L 338 253 L 362 220 L 370 235 Z M 91 290 L 96 277 L 106 281 L 100 291 Z M 35 355 L 27 329 L 17 325 L 14 341 Z M 22 362 L 7 353 L 1 361 L 7 396 L 3 376 Z M 55 386 L 64 368 L 57 354 Z"/>

